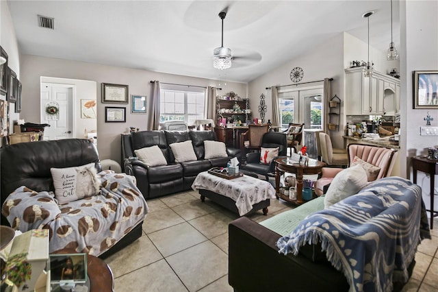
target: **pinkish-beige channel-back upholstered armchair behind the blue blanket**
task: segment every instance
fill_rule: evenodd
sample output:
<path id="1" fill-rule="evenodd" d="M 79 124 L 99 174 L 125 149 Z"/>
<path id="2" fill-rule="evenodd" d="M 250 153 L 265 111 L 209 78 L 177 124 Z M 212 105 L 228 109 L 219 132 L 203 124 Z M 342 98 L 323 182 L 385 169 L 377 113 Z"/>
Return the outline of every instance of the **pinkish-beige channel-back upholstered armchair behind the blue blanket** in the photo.
<path id="1" fill-rule="evenodd" d="M 363 144 L 348 144 L 348 167 L 361 164 L 367 172 L 368 181 L 385 178 L 392 171 L 398 152 L 395 149 Z M 323 167 L 322 175 L 315 182 L 315 194 L 323 195 L 340 168 Z"/>

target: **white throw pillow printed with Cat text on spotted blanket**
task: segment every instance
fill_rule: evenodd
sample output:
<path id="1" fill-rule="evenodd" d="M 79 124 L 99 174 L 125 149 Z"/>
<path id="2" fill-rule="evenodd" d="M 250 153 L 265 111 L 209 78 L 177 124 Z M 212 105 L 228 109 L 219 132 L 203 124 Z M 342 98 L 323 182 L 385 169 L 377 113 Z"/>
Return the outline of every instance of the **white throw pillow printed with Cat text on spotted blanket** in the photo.
<path id="1" fill-rule="evenodd" d="M 50 172 L 58 204 L 66 204 L 99 193 L 101 182 L 97 177 L 94 162 L 81 167 L 67 167 L 64 169 L 52 167 Z"/>

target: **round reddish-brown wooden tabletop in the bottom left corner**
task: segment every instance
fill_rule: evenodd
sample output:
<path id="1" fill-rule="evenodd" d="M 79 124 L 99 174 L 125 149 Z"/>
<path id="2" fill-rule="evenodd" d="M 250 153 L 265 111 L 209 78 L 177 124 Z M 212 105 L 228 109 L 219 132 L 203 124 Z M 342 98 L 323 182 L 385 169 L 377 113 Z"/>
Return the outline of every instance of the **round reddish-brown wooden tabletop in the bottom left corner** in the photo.
<path id="1" fill-rule="evenodd" d="M 76 254 L 75 250 L 58 250 L 53 254 Z M 114 278 L 108 265 L 96 256 L 87 254 L 87 275 L 90 292 L 114 291 Z"/>

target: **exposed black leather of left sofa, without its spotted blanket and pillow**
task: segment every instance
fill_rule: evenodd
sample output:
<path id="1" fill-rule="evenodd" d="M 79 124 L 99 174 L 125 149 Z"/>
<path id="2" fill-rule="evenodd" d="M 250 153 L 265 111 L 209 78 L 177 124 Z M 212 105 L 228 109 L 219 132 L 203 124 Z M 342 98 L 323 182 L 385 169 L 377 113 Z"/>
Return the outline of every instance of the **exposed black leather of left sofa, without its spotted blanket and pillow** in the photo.
<path id="1" fill-rule="evenodd" d="M 1 158 L 1 206 L 10 193 L 19 186 L 27 186 L 34 191 L 54 191 L 51 167 L 77 167 L 94 162 L 101 171 L 101 161 L 96 146 L 87 139 L 64 139 L 58 141 L 38 141 L 5 145 L 0 149 Z M 1 225 L 9 226 L 1 215 Z M 142 223 L 131 229 L 110 250 L 99 257 L 105 258 L 122 250 L 142 236 Z"/>

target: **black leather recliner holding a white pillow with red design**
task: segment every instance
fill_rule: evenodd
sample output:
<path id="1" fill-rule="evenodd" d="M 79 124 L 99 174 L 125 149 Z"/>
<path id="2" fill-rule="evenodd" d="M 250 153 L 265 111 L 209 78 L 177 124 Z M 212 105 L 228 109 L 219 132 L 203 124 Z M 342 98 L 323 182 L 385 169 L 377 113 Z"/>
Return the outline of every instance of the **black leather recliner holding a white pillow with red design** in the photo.
<path id="1" fill-rule="evenodd" d="M 261 147 L 263 148 L 276 148 L 279 147 L 279 156 L 287 155 L 287 137 L 281 132 L 268 132 L 263 134 L 261 138 Z M 246 171 L 252 171 L 261 175 L 265 175 L 268 180 L 268 173 L 274 173 L 275 160 L 272 159 L 269 165 L 263 165 L 260 163 L 260 153 L 253 152 L 246 154 L 246 165 L 242 166 L 242 169 Z"/>

